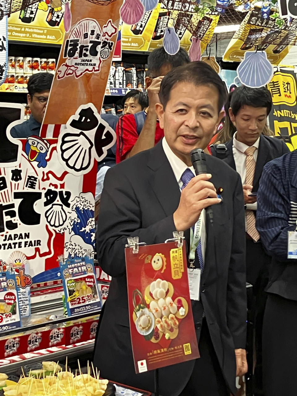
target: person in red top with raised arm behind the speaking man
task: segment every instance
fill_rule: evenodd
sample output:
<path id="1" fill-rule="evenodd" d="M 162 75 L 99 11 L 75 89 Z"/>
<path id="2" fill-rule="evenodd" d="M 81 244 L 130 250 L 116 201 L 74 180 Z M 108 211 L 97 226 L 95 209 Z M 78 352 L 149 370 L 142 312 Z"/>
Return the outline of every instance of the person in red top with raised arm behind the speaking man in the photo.
<path id="1" fill-rule="evenodd" d="M 156 48 L 150 53 L 145 78 L 149 105 L 142 114 L 143 126 L 141 130 L 137 128 L 137 120 L 134 114 L 126 114 L 120 117 L 116 127 L 117 164 L 141 151 L 154 147 L 162 139 L 164 131 L 160 128 L 155 111 L 155 105 L 159 102 L 161 82 L 169 71 L 189 62 L 190 58 L 183 48 L 180 48 L 175 55 L 169 55 L 163 47 Z"/>

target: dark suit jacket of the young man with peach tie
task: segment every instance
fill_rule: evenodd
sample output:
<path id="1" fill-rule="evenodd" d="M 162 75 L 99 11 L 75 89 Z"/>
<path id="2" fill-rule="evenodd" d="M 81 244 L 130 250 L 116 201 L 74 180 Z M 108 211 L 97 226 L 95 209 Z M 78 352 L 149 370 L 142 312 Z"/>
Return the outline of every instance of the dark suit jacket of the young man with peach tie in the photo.
<path id="1" fill-rule="evenodd" d="M 234 157 L 233 157 L 233 138 L 226 143 L 227 151 L 226 158 L 223 160 L 226 164 L 230 165 L 231 168 L 236 170 Z M 253 180 L 253 192 L 257 192 L 259 188 L 259 181 L 262 174 L 264 165 L 267 162 L 274 160 L 274 158 L 281 157 L 283 154 L 289 152 L 289 148 L 283 140 L 276 139 L 271 136 L 260 136 L 259 141 L 259 152 L 257 155 L 257 162 L 255 168 L 255 175 Z"/>

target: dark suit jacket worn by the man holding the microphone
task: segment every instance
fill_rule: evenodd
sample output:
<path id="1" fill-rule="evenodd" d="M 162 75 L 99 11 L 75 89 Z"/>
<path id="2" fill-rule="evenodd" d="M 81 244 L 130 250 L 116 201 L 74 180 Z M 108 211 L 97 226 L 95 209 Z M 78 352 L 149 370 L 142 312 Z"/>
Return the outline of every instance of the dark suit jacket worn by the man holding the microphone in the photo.
<path id="1" fill-rule="evenodd" d="M 213 206 L 213 226 L 206 223 L 207 247 L 201 298 L 193 302 L 199 339 L 203 309 L 219 364 L 230 390 L 236 392 L 234 348 L 246 345 L 246 266 L 244 204 L 239 175 L 221 160 L 207 156 L 212 182 L 223 187 Z M 98 218 L 99 265 L 112 276 L 109 297 L 97 331 L 94 363 L 107 379 L 153 391 L 152 372 L 135 374 L 129 332 L 124 246 L 128 236 L 163 243 L 175 230 L 179 185 L 162 142 L 107 171 Z M 185 233 L 189 240 L 189 231 Z M 160 394 L 178 395 L 190 378 L 194 360 L 159 370 Z"/>

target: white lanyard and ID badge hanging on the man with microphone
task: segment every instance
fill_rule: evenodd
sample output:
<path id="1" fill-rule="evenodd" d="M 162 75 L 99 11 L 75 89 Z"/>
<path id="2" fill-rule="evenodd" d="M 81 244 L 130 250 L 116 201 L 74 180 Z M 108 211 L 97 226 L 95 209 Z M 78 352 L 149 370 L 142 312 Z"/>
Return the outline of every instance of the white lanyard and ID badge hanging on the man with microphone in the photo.
<path id="1" fill-rule="evenodd" d="M 195 252 L 201 238 L 202 216 L 203 216 L 203 211 L 201 212 L 200 217 L 197 223 L 195 224 L 194 231 L 192 230 L 192 228 L 190 229 L 190 253 L 189 253 L 190 268 L 188 268 L 188 282 L 189 282 L 189 290 L 190 290 L 190 299 L 195 301 L 199 301 L 200 299 L 201 269 L 194 267 L 194 261 L 195 261 Z"/>

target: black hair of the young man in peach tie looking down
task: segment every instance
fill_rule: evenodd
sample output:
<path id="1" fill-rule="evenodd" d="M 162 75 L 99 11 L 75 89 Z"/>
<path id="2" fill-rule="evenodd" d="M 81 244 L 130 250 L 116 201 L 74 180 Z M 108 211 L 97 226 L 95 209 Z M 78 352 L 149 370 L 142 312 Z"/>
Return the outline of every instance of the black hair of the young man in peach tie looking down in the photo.
<path id="1" fill-rule="evenodd" d="M 232 92 L 230 103 L 234 116 L 243 106 L 266 107 L 268 115 L 272 107 L 271 93 L 266 87 L 249 88 L 243 85 L 237 87 Z"/>

